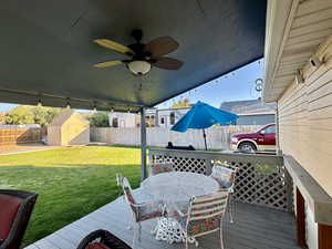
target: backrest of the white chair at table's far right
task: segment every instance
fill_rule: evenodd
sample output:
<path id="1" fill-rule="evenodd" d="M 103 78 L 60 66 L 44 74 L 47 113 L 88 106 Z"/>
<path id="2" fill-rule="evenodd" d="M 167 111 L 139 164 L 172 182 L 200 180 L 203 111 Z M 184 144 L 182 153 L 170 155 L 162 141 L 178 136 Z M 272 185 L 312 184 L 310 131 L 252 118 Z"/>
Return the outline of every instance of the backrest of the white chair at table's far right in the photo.
<path id="1" fill-rule="evenodd" d="M 215 165 L 212 167 L 212 173 L 210 176 L 218 181 L 220 187 L 231 188 L 235 184 L 236 174 L 237 174 L 237 168 L 231 168 L 227 165 L 225 166 Z"/>

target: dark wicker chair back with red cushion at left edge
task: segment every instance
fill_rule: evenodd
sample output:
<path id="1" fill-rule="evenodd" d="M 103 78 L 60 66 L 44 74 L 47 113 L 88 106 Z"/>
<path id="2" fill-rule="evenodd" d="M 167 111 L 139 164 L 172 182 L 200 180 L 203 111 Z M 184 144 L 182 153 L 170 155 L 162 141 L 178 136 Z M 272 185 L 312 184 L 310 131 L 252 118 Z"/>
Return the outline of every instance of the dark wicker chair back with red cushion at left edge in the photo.
<path id="1" fill-rule="evenodd" d="M 38 195 L 0 189 L 0 249 L 20 248 Z"/>

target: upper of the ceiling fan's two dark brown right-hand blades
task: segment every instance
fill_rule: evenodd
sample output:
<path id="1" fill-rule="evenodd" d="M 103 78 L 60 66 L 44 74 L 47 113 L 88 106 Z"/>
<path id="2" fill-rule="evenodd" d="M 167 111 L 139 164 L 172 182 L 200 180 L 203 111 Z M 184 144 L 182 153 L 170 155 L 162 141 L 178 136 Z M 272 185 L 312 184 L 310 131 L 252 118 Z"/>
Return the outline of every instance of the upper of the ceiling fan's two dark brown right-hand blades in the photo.
<path id="1" fill-rule="evenodd" d="M 153 58 L 165 55 L 178 48 L 177 41 L 169 37 L 162 37 L 152 40 L 144 48 L 144 52 L 149 52 Z"/>

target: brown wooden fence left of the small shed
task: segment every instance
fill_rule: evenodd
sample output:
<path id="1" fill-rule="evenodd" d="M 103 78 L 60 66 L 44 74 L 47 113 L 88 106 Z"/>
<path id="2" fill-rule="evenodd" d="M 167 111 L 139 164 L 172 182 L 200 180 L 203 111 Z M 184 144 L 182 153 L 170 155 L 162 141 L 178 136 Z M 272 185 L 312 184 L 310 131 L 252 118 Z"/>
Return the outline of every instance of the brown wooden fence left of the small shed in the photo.
<path id="1" fill-rule="evenodd" d="M 0 128 L 0 145 L 41 142 L 42 128 Z"/>

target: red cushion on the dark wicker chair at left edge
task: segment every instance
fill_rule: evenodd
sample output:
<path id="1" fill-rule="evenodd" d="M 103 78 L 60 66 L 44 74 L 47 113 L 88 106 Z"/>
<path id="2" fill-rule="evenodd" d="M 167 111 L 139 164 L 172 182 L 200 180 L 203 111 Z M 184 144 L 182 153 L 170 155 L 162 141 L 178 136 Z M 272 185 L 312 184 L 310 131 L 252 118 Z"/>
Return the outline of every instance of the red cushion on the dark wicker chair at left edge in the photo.
<path id="1" fill-rule="evenodd" d="M 0 194 L 0 240 L 7 239 L 22 199 Z"/>

